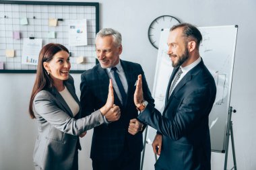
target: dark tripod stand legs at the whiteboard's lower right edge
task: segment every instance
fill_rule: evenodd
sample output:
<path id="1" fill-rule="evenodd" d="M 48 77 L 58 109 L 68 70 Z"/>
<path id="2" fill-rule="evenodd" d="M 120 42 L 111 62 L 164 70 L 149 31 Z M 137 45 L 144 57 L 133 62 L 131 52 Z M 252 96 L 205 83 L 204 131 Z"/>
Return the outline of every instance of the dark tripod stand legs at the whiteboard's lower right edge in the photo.
<path id="1" fill-rule="evenodd" d="M 227 128 L 227 137 L 226 137 L 226 152 L 225 152 L 225 163 L 224 163 L 224 170 L 226 170 L 226 166 L 228 163 L 228 143 L 229 143 L 229 136 L 231 137 L 231 145 L 232 145 L 232 153 L 233 153 L 233 162 L 234 167 L 232 169 L 236 169 L 236 154 L 234 152 L 234 134 L 233 134 L 233 124 L 231 120 L 232 112 L 236 113 L 236 110 L 232 110 L 232 106 L 229 107 L 228 110 L 228 128 Z M 230 169 L 230 170 L 232 170 Z"/>

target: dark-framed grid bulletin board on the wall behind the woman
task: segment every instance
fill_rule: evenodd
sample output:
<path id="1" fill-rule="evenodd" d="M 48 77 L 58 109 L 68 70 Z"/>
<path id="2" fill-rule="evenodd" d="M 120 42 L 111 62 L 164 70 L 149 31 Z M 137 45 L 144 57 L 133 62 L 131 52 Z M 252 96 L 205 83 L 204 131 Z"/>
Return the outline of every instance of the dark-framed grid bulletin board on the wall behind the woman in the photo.
<path id="1" fill-rule="evenodd" d="M 21 24 L 24 18 L 28 24 Z M 57 26 L 50 26 L 49 19 L 57 19 Z M 76 19 L 86 19 L 87 44 L 83 46 L 69 46 L 70 21 Z M 22 63 L 25 39 L 42 39 L 42 46 L 63 44 L 70 52 L 70 73 L 82 73 L 96 65 L 98 31 L 99 3 L 0 1 L 0 73 L 36 73 L 36 65 Z M 14 56 L 8 56 L 9 49 Z M 77 58 L 84 58 L 83 63 L 77 64 Z"/>

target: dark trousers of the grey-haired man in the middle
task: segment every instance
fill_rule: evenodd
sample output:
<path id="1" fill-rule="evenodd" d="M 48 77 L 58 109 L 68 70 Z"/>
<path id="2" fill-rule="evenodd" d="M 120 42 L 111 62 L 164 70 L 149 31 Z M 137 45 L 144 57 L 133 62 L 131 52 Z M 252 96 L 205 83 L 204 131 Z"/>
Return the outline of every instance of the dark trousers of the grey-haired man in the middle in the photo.
<path id="1" fill-rule="evenodd" d="M 111 161 L 92 159 L 92 167 L 94 170 L 139 170 L 140 159 L 140 152 L 131 153 L 126 146 L 117 159 Z"/>

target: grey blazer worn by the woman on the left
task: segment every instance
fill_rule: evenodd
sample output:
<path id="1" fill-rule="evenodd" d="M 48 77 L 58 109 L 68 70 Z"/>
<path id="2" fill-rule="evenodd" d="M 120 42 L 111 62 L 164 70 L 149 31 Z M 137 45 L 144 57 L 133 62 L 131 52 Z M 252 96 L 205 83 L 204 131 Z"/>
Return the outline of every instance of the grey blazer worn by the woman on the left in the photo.
<path id="1" fill-rule="evenodd" d="M 70 75 L 65 86 L 79 103 Z M 55 88 L 44 89 L 36 94 L 33 111 L 38 123 L 33 159 L 41 169 L 71 169 L 75 151 L 81 150 L 78 135 L 104 123 L 99 110 L 85 118 L 80 118 L 79 112 L 74 118 L 69 106 Z"/>

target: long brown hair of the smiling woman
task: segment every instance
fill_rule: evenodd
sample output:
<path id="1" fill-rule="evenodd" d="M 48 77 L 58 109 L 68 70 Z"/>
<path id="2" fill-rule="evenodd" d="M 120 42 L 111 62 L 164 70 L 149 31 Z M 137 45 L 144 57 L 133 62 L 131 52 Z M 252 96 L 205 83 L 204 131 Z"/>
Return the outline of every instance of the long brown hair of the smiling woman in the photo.
<path id="1" fill-rule="evenodd" d="M 65 46 L 61 44 L 46 44 L 42 50 L 40 50 L 39 57 L 38 57 L 38 66 L 36 70 L 36 81 L 34 82 L 34 87 L 32 89 L 32 94 L 30 97 L 30 106 L 29 112 L 30 117 L 32 119 L 35 118 L 33 112 L 33 101 L 36 94 L 41 91 L 42 89 L 52 88 L 53 87 L 53 79 L 51 79 L 50 75 L 47 74 L 47 71 L 44 69 L 44 62 L 49 62 L 53 59 L 53 56 L 61 51 L 64 50 L 69 53 L 69 50 L 65 48 Z"/>

